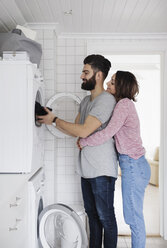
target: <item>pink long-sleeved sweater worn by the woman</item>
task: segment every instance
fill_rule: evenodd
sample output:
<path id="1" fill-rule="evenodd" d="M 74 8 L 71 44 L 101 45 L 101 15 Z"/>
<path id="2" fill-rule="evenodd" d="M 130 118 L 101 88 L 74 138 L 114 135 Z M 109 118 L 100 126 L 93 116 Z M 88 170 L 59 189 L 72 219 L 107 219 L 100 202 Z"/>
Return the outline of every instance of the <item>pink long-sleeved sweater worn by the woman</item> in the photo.
<path id="1" fill-rule="evenodd" d="M 97 146 L 111 137 L 115 138 L 116 148 L 120 154 L 134 159 L 145 154 L 140 137 L 140 123 L 134 103 L 128 98 L 121 99 L 114 109 L 108 126 L 101 132 L 80 140 L 82 147 Z"/>

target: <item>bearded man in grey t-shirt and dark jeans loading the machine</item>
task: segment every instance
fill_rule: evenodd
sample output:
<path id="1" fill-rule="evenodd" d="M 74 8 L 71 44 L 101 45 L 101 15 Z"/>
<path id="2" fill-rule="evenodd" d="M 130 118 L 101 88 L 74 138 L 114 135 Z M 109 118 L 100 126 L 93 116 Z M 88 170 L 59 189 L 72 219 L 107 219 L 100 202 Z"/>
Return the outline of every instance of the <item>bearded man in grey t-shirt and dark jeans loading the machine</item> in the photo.
<path id="1" fill-rule="evenodd" d="M 46 109 L 46 116 L 38 116 L 41 123 L 56 127 L 71 136 L 87 137 L 106 127 L 115 106 L 114 97 L 104 91 L 103 83 L 111 63 L 101 55 L 89 55 L 84 60 L 81 88 L 91 91 L 79 108 L 75 123 L 66 122 Z M 85 147 L 79 152 L 78 173 L 84 206 L 89 218 L 90 248 L 101 248 L 104 230 L 104 248 L 116 248 L 117 224 L 114 213 L 114 189 L 117 178 L 117 155 L 114 141 Z"/>

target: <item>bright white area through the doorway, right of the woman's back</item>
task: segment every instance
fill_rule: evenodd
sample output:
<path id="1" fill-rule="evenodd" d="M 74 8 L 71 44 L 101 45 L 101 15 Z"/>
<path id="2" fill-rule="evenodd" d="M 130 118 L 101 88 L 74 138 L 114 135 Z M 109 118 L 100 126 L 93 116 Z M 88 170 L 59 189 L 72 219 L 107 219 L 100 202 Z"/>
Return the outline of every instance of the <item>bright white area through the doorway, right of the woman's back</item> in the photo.
<path id="1" fill-rule="evenodd" d="M 139 81 L 140 94 L 137 97 L 136 108 L 146 157 L 153 159 L 156 147 L 160 145 L 160 71 L 148 70 L 138 73 L 142 79 Z"/>

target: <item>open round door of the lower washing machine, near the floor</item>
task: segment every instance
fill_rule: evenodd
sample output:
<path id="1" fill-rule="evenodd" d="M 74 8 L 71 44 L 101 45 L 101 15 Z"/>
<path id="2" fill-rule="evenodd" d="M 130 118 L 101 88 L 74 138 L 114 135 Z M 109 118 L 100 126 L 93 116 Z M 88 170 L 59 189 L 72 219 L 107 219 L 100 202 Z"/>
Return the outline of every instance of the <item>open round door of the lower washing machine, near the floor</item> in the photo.
<path id="1" fill-rule="evenodd" d="M 88 239 L 84 224 L 77 213 L 63 204 L 43 209 L 39 216 L 40 247 L 86 248 Z"/>

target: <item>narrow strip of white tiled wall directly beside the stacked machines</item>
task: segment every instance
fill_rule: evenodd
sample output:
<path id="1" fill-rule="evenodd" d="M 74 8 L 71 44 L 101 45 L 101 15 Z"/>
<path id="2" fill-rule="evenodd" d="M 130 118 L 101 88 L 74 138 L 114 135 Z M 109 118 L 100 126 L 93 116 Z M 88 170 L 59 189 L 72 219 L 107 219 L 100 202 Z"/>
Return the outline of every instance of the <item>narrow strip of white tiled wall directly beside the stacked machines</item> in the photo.
<path id="1" fill-rule="evenodd" d="M 40 69 L 45 79 L 45 98 L 46 101 L 54 94 L 54 78 L 55 78 L 55 39 L 53 30 L 38 30 L 38 41 L 42 45 L 43 54 Z M 45 204 L 54 202 L 54 168 L 55 168 L 55 149 L 54 137 L 45 130 Z"/>

